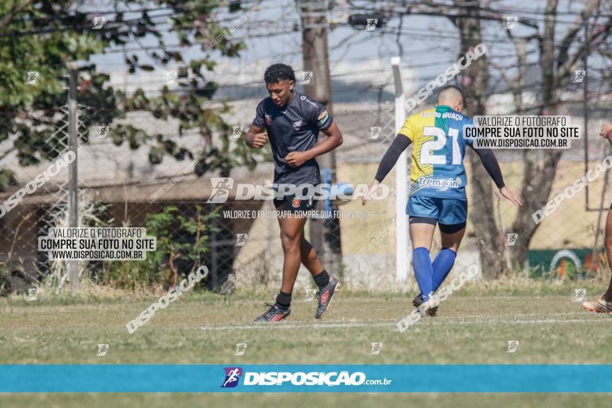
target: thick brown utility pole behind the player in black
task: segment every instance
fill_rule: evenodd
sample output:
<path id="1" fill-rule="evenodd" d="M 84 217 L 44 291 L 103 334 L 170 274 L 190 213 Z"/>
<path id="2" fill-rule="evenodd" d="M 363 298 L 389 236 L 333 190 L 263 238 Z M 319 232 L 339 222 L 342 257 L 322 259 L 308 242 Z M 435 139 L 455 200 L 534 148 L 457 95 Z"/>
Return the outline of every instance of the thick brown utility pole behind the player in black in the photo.
<path id="1" fill-rule="evenodd" d="M 303 83 L 303 92 L 321 102 L 332 113 L 332 85 L 328 55 L 328 20 L 325 0 L 298 0 L 302 17 L 302 56 L 305 72 L 312 72 L 310 83 Z M 302 78 L 298 77 L 298 82 Z M 323 183 L 336 181 L 336 155 L 332 150 L 316 159 L 321 166 Z M 332 214 L 336 206 L 332 202 Z M 342 250 L 339 218 L 310 220 L 310 242 L 330 272 L 341 277 Z"/>

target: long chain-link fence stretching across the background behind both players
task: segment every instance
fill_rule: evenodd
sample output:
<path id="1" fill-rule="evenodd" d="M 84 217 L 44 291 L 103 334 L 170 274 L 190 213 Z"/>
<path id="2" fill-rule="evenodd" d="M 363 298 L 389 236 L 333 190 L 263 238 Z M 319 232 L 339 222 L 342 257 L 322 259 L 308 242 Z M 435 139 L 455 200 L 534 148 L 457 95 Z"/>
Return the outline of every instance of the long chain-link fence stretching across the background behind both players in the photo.
<path id="1" fill-rule="evenodd" d="M 173 140 L 178 147 L 191 152 L 207 154 L 222 143 L 243 143 L 245 129 L 255 114 L 257 99 L 236 101 L 232 110 L 223 113 L 223 119 L 232 131 L 227 134 L 202 133 L 198 129 L 180 129 L 177 120 L 161 120 L 151 113 L 127 112 L 122 119 L 111 111 L 93 106 L 79 105 L 79 222 L 82 226 L 98 227 L 152 227 L 157 234 L 158 247 L 155 263 L 137 264 L 128 261 L 81 262 L 80 270 L 94 281 L 112 281 L 123 286 L 138 286 L 136 279 L 146 275 L 144 281 L 164 281 L 168 284 L 182 279 L 195 265 L 207 265 L 211 271 L 208 286 L 220 288 L 225 282 L 243 288 L 274 287 L 280 284 L 282 272 L 282 246 L 277 220 L 267 216 L 239 216 L 236 211 L 273 210 L 271 200 L 238 200 L 229 195 L 223 203 L 211 203 L 214 190 L 213 177 L 218 171 L 209 171 L 198 156 L 171 156 L 154 154 L 156 140 L 122 140 L 113 129 L 131 125 L 149 135 L 161 134 Z M 426 106 L 424 106 L 426 108 Z M 49 166 L 67 152 L 67 108 L 61 106 L 46 112 L 49 122 L 40 124 L 34 117 L 22 121 L 24 126 L 46 126 L 49 130 L 45 143 L 46 160 L 29 163 L 14 154 L 2 159 L 4 170 L 15 171 L 15 185 L 6 180 L 5 201 L 19 188 L 35 180 Z M 380 158 L 395 136 L 394 104 L 390 101 L 352 104 L 337 103 L 333 117 L 344 135 L 344 144 L 336 151 L 335 179 L 337 183 L 369 183 Z M 9 138 L 5 147 L 17 135 L 24 137 L 23 129 L 8 129 L 9 117 L 0 116 L 0 129 Z M 577 122 L 579 120 L 577 119 Z M 595 121 L 595 129 L 602 121 Z M 598 128 L 597 128 L 598 129 Z M 589 147 L 589 160 L 585 159 L 583 141 L 564 152 L 557 165 L 553 196 L 572 185 L 588 168 L 601 163 L 609 148 L 593 138 Z M 524 174 L 520 152 L 496 152 L 506 184 L 520 193 Z M 468 174 L 469 161 L 465 161 Z M 30 165 L 22 165 L 30 164 Z M 542 171 L 548 171 L 543 168 Z M 238 166 L 229 174 L 234 183 L 261 186 L 271 183 L 273 165 L 261 161 L 250 169 Z M 385 288 L 406 290 L 406 284 L 395 279 L 395 172 L 385 179 L 390 194 L 387 199 L 371 201 L 362 206 L 361 199 L 333 204 L 344 211 L 331 234 L 339 238 L 341 267 L 330 272 L 341 275 L 349 287 L 359 289 Z M 529 247 L 529 268 L 542 271 L 555 270 L 556 275 L 570 276 L 579 269 L 597 270 L 601 259 L 593 257 L 593 249 L 601 250 L 607 203 L 608 177 L 597 178 L 586 190 L 565 200 L 549 215 L 536 231 Z M 468 197 L 473 199 L 469 195 Z M 52 286 L 61 287 L 67 279 L 65 265 L 49 261 L 45 252 L 37 250 L 38 236 L 47 235 L 50 227 L 67 225 L 67 170 L 63 168 L 49 177 L 40 188 L 24 195 L 19 204 L 5 211 L 0 218 L 0 262 L 9 276 L 25 275 L 28 279 L 51 277 Z M 330 204 L 330 203 L 328 203 Z M 326 209 L 319 204 L 318 210 Z M 234 211 L 234 212 L 232 212 Z M 360 213 L 360 211 L 364 211 Z M 506 251 L 513 250 L 513 221 L 516 209 L 510 203 L 494 197 L 493 208 L 499 230 L 506 241 Z M 243 212 L 242 214 L 245 214 Z M 323 221 L 324 222 L 324 221 Z M 306 236 L 309 237 L 310 222 Z M 458 266 L 478 263 L 479 225 L 470 218 L 467 234 L 458 258 Z M 147 231 L 151 235 L 151 231 Z M 329 237 L 328 237 L 329 238 Z M 596 240 L 597 238 L 597 240 Z M 440 248 L 435 237 L 432 253 Z M 566 251 L 558 256 L 560 251 Z M 568 252 L 569 251 L 569 252 Z M 557 256 L 557 259 L 555 258 Z M 594 268 L 595 267 L 595 268 Z M 121 271 L 119 273 L 118 271 Z M 144 275 L 143 275 L 144 274 Z M 537 274 L 536 274 L 537 275 Z M 127 277 L 131 276 L 131 281 Z M 8 278 L 10 280 L 10 278 Z M 6 280 L 6 279 L 5 279 Z M 412 282 L 412 279 L 409 279 Z M 10 284 L 10 282 L 9 282 Z M 412 283 L 410 283 L 412 284 Z M 311 288 L 314 283 L 304 267 L 298 275 L 297 288 Z"/>

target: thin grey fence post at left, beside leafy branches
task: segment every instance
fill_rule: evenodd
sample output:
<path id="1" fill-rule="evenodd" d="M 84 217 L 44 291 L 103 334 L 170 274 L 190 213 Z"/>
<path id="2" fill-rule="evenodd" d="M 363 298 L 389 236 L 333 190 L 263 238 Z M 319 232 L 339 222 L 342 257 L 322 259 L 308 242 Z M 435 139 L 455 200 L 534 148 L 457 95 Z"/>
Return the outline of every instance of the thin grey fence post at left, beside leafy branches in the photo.
<path id="1" fill-rule="evenodd" d="M 77 63 L 70 63 L 70 79 L 68 83 L 68 151 L 77 155 L 78 143 L 78 111 L 77 111 Z M 68 227 L 79 227 L 79 186 L 77 183 L 77 160 L 68 166 Z M 79 291 L 79 261 L 66 261 L 66 271 L 70 279 L 70 292 Z"/>

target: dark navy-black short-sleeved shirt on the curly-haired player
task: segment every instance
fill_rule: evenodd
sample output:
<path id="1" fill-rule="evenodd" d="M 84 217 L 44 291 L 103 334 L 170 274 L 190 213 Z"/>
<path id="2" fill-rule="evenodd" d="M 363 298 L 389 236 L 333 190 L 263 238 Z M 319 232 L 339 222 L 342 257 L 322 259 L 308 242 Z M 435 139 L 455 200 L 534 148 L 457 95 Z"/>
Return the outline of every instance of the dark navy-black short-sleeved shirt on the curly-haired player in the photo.
<path id="1" fill-rule="evenodd" d="M 253 124 L 265 127 L 274 158 L 274 183 L 319 184 L 319 164 L 312 158 L 298 168 L 291 167 L 284 158 L 291 152 L 305 152 L 316 145 L 319 131 L 332 126 L 332 117 L 325 106 L 295 92 L 293 101 L 282 108 L 271 97 L 259 102 Z"/>

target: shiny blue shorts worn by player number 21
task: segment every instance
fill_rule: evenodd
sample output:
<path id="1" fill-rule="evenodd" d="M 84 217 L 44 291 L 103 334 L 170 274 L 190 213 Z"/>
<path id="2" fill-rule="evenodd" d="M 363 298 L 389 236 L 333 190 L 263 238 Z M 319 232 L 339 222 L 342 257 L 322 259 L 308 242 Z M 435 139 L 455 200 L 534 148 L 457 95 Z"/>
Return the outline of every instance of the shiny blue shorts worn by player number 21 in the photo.
<path id="1" fill-rule="evenodd" d="M 467 221 L 467 199 L 412 195 L 406 213 L 412 217 L 435 218 L 444 225 L 460 224 Z"/>

